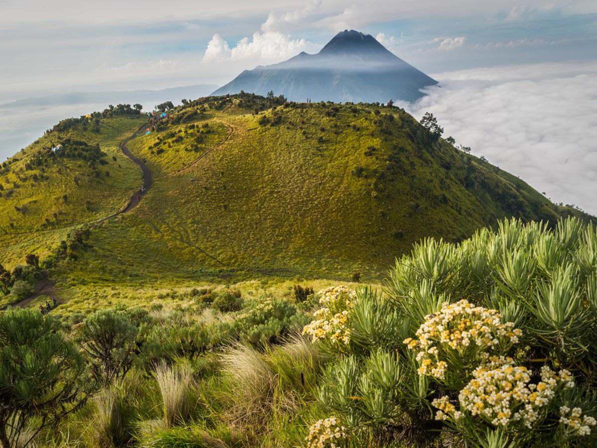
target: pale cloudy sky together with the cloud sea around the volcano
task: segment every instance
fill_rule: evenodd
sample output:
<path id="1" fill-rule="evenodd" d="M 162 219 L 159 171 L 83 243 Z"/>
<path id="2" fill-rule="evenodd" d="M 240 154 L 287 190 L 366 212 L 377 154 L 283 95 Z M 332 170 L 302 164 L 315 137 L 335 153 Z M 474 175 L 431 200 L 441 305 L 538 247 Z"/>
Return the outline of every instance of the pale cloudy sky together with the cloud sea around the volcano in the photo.
<path id="1" fill-rule="evenodd" d="M 0 113 L 12 100 L 73 91 L 223 85 L 316 53 L 344 29 L 438 79 L 407 105 L 416 118 L 432 111 L 473 154 L 597 213 L 594 0 L 0 0 Z M 0 156 L 91 106 L 11 111 Z"/>

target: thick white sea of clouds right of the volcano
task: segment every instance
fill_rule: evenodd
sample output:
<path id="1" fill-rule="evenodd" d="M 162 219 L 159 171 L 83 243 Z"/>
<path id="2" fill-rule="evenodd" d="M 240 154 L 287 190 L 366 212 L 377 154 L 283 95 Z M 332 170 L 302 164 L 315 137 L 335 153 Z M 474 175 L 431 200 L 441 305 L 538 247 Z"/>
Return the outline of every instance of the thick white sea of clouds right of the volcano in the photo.
<path id="1" fill-rule="evenodd" d="M 441 87 L 407 110 L 430 111 L 445 136 L 553 201 L 597 214 L 597 63 L 439 73 Z"/>

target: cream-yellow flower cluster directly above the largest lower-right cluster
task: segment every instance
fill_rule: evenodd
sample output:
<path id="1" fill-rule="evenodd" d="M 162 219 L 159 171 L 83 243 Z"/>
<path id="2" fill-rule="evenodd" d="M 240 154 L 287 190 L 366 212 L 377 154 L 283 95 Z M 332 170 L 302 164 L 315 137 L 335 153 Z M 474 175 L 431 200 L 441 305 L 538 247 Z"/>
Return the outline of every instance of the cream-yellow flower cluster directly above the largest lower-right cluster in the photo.
<path id="1" fill-rule="evenodd" d="M 512 322 L 501 323 L 497 309 L 473 306 L 468 300 L 442 303 L 441 310 L 425 317 L 416 333 L 404 343 L 417 350 L 418 374 L 445 379 L 448 364 L 444 352 L 457 351 L 467 362 L 481 361 L 487 351 L 507 351 L 519 342 L 522 330 Z"/>

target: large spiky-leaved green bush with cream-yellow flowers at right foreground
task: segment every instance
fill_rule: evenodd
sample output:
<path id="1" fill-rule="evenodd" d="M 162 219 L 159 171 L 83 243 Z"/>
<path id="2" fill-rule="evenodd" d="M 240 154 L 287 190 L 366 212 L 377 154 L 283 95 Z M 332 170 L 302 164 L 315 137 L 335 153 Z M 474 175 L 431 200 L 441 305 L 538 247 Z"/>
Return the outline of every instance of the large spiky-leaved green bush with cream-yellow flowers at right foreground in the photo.
<path id="1" fill-rule="evenodd" d="M 334 357 L 319 402 L 335 419 L 309 446 L 325 431 L 356 446 L 597 443 L 594 226 L 506 220 L 425 240 L 383 295 L 326 290 L 322 305 L 305 332 Z"/>

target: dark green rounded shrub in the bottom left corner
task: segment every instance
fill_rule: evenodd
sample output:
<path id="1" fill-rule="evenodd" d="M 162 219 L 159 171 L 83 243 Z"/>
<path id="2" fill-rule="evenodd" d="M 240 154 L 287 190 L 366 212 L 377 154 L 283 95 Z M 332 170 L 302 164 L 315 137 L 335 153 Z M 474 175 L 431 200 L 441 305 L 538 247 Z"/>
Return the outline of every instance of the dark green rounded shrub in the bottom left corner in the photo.
<path id="1" fill-rule="evenodd" d="M 84 369 L 58 319 L 33 309 L 0 312 L 2 448 L 27 446 L 42 428 L 78 410 L 89 391 Z"/>

